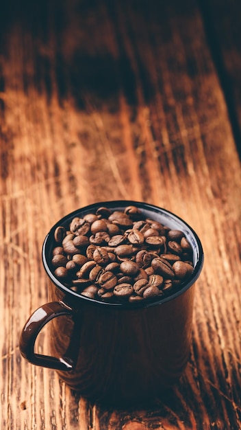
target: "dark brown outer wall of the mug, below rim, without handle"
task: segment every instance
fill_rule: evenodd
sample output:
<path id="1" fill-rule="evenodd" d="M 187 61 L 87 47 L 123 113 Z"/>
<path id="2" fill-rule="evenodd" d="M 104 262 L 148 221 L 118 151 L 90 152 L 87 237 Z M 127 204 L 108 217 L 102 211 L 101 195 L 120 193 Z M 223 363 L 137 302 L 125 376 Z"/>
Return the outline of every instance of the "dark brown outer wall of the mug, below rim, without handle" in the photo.
<path id="1" fill-rule="evenodd" d="M 138 403 L 155 398 L 183 373 L 190 352 L 194 284 L 163 304 L 145 308 L 71 302 L 49 280 L 49 299 L 62 300 L 73 317 L 51 324 L 54 357 L 71 357 L 60 378 L 90 400 Z"/>

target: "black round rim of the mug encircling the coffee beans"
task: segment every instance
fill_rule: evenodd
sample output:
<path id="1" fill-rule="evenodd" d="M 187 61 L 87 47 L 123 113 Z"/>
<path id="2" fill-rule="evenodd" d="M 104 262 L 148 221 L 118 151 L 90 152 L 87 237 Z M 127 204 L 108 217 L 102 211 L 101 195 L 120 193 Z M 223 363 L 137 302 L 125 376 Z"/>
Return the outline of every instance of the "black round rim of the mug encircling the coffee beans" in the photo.
<path id="1" fill-rule="evenodd" d="M 64 225 L 68 220 L 72 220 L 75 218 L 75 216 L 79 216 L 81 213 L 86 212 L 86 214 L 91 213 L 93 209 L 97 210 L 98 207 L 109 207 L 112 208 L 112 210 L 118 210 L 121 208 L 124 208 L 129 205 L 135 205 L 136 207 L 139 207 L 143 210 L 148 210 L 149 212 L 155 213 L 155 214 L 162 214 L 169 218 L 172 218 L 174 221 L 177 221 L 183 226 L 186 227 L 187 231 L 193 236 L 195 242 L 196 242 L 196 249 L 197 249 L 197 260 L 196 264 L 194 265 L 194 271 L 192 272 L 191 277 L 188 279 L 188 282 L 183 282 L 183 286 L 175 293 L 167 295 L 166 297 L 160 297 L 159 299 L 150 299 L 149 300 L 141 300 L 140 302 L 132 302 L 132 303 L 121 303 L 121 302 L 105 302 L 98 299 L 91 299 L 90 297 L 86 297 L 84 295 L 81 295 L 81 293 L 77 293 L 76 291 L 71 290 L 71 288 L 68 288 L 68 286 L 65 286 L 58 280 L 58 278 L 55 278 L 55 275 L 53 274 L 53 271 L 50 269 L 50 264 L 48 263 L 47 258 L 47 249 L 50 247 L 50 244 L 53 242 L 53 234 L 55 229 L 60 226 Z M 101 201 L 92 203 L 90 205 L 86 205 L 84 207 L 80 207 L 77 210 L 74 210 L 73 212 L 70 212 L 69 214 L 66 214 L 64 217 L 62 217 L 60 220 L 55 223 L 51 229 L 49 230 L 49 233 L 45 237 L 45 240 L 42 245 L 42 263 L 45 268 L 45 271 L 47 272 L 47 275 L 49 276 L 49 279 L 53 284 L 62 291 L 62 293 L 66 294 L 68 297 L 73 297 L 73 299 L 78 299 L 80 301 L 84 300 L 85 302 L 88 302 L 89 304 L 93 304 L 95 306 L 109 306 L 111 308 L 121 308 L 121 309 L 134 309 L 134 308 L 149 308 L 151 306 L 157 306 L 164 304 L 166 302 L 170 302 L 171 300 L 175 299 L 179 295 L 183 294 L 185 291 L 188 290 L 194 284 L 194 282 L 199 278 L 199 275 L 201 273 L 201 270 L 203 268 L 203 260 L 204 260 L 204 253 L 203 253 L 203 247 L 201 245 L 201 240 L 199 239 L 199 236 L 196 234 L 196 231 L 186 223 L 185 220 L 183 220 L 178 215 L 174 214 L 173 212 L 170 212 L 169 210 L 164 209 L 163 207 L 159 207 L 157 205 L 153 205 L 151 203 L 145 203 L 141 201 L 132 201 L 132 200 L 114 200 L 114 201 Z"/>

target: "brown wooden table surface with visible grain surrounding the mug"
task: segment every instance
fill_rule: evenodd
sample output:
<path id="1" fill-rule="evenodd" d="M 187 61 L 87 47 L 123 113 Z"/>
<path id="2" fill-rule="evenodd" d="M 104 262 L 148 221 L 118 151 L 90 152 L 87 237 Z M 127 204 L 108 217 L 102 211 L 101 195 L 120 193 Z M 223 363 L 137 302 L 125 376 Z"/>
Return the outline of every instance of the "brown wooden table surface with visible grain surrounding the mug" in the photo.
<path id="1" fill-rule="evenodd" d="M 2 5 L 1 429 L 241 429 L 241 3 Z M 89 403 L 18 348 L 49 228 L 116 199 L 175 212 L 205 252 L 186 372 L 139 409 Z"/>

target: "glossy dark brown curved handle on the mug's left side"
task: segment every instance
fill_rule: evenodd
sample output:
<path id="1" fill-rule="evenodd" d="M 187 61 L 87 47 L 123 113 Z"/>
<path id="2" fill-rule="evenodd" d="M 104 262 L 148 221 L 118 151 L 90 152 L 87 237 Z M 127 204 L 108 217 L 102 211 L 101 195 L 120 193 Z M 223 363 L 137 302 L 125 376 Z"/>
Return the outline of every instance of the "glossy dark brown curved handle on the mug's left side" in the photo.
<path id="1" fill-rule="evenodd" d="M 73 370 L 73 359 L 68 357 L 51 357 L 49 355 L 36 354 L 34 345 L 40 330 L 51 319 L 62 315 L 73 316 L 74 310 L 63 302 L 46 303 L 36 309 L 29 317 L 21 332 L 19 349 L 22 356 L 30 363 L 55 370 Z"/>

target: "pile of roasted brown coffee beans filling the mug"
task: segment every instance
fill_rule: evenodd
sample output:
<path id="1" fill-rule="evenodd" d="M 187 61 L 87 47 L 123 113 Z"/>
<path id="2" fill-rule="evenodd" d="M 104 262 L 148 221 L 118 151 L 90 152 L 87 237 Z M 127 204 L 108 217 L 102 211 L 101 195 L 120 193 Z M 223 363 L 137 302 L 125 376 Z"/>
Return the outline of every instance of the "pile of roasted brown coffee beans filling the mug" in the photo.
<path id="1" fill-rule="evenodd" d="M 193 271 L 183 231 L 145 218 L 136 206 L 99 207 L 54 232 L 53 273 L 86 297 L 137 302 L 172 294 Z"/>

